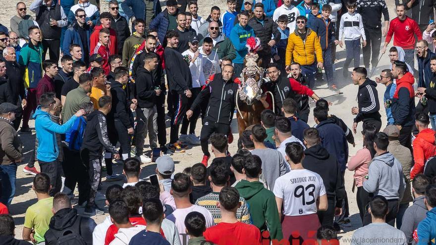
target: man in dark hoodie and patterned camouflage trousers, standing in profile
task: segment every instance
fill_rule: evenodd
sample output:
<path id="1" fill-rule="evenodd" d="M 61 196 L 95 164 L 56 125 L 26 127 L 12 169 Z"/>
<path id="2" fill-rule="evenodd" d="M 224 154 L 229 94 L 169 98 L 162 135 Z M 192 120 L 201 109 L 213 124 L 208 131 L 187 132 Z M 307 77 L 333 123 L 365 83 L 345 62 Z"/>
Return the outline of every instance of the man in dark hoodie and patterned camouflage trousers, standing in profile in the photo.
<path id="1" fill-rule="evenodd" d="M 109 96 L 103 96 L 99 99 L 100 109 L 91 112 L 88 116 L 85 132 L 83 134 L 83 143 L 80 148 L 80 158 L 83 164 L 88 166 L 90 190 L 88 203 L 86 204 L 84 214 L 96 215 L 104 212 L 96 209 L 95 197 L 97 188 L 100 183 L 102 172 L 102 153 L 103 149 L 111 152 L 113 158 L 119 159 L 118 151 L 110 144 L 108 136 L 108 127 L 106 115 L 111 109 L 112 99 Z"/>

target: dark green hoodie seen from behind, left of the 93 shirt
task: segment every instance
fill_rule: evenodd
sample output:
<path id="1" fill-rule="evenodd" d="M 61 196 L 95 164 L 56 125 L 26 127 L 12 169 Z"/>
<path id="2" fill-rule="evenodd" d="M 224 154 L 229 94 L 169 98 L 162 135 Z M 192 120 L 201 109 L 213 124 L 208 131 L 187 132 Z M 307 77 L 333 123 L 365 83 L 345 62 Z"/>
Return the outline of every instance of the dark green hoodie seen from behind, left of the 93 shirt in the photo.
<path id="1" fill-rule="evenodd" d="M 272 239 L 281 240 L 281 224 L 278 218 L 277 203 L 272 191 L 265 189 L 259 181 L 249 182 L 241 180 L 235 188 L 244 197 L 250 209 L 253 225 L 261 232 L 268 230 Z"/>

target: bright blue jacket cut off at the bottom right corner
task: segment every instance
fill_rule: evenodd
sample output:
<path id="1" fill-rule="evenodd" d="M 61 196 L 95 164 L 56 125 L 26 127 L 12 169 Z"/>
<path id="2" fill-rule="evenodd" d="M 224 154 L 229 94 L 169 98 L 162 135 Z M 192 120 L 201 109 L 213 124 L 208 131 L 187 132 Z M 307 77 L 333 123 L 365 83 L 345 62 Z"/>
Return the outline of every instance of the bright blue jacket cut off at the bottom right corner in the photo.
<path id="1" fill-rule="evenodd" d="M 418 244 L 435 245 L 436 238 L 436 207 L 427 212 L 427 218 L 418 225 Z"/>

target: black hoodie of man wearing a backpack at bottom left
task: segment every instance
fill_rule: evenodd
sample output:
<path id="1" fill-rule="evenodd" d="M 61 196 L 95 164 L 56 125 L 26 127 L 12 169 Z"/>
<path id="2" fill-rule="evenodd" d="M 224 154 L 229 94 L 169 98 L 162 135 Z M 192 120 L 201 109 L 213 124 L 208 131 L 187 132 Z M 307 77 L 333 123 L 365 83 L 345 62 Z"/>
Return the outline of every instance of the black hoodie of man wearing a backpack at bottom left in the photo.
<path id="1" fill-rule="evenodd" d="M 76 209 L 63 208 L 50 220 L 49 230 L 44 235 L 44 239 L 46 245 L 58 245 L 57 238 L 62 236 L 63 231 L 70 229 L 80 235 L 86 244 L 92 245 L 92 233 L 96 226 L 93 219 L 77 215 Z"/>

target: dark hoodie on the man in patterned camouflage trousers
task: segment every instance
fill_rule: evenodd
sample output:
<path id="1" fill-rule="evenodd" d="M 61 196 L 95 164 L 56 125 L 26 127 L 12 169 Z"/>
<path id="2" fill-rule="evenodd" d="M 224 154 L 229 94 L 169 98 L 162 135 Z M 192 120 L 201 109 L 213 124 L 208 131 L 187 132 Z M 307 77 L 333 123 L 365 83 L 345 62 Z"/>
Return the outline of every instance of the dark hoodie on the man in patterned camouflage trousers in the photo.
<path id="1" fill-rule="evenodd" d="M 95 110 L 87 116 L 87 119 L 88 122 L 86 123 L 80 149 L 82 161 L 86 163 L 99 159 L 103 154 L 103 148 L 112 154 L 117 154 L 118 151 L 109 141 L 106 115 L 99 110 Z"/>

